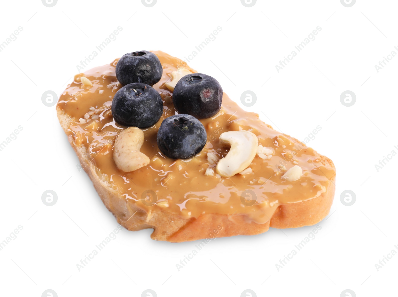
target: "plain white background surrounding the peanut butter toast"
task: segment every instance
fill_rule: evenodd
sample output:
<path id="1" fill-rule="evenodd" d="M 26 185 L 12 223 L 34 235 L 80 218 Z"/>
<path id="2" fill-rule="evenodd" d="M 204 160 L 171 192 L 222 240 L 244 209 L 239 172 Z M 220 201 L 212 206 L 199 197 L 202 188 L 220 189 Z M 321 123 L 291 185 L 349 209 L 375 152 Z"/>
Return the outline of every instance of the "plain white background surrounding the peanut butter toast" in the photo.
<path id="1" fill-rule="evenodd" d="M 1 10 L 0 42 L 23 28 L 0 52 L 0 142 L 23 127 L 0 151 L 0 241 L 23 227 L 0 251 L 2 296 L 40 297 L 46 289 L 59 297 L 141 296 L 146 289 L 159 297 L 241 296 L 245 289 L 257 296 L 338 297 L 345 289 L 397 295 L 398 255 L 375 267 L 398 251 L 398 156 L 375 168 L 398 152 L 398 57 L 375 69 L 398 53 L 396 1 L 361 0 L 347 8 L 339 0 L 258 0 L 248 8 L 239 0 L 158 0 L 148 8 L 140 0 L 59 0 L 48 8 L 26 0 L 3 1 Z M 244 108 L 277 130 L 304 140 L 322 127 L 308 146 L 334 161 L 336 197 L 315 239 L 279 271 L 275 264 L 313 227 L 217 238 L 180 271 L 176 264 L 197 242 L 158 242 L 151 229 L 123 229 L 85 268 L 76 268 L 118 224 L 79 171 L 55 106 L 45 106 L 41 96 L 61 94 L 80 72 L 76 65 L 118 26 L 117 39 L 84 70 L 136 50 L 184 59 L 220 26 L 216 39 L 196 50 L 191 67 L 215 77 L 242 107 L 242 92 L 254 91 L 256 104 Z M 278 73 L 275 65 L 317 26 L 316 38 Z M 340 102 L 346 90 L 356 95 L 351 107 Z M 47 190 L 57 193 L 54 206 L 41 201 Z M 356 195 L 352 206 L 340 201 L 345 190 Z"/>

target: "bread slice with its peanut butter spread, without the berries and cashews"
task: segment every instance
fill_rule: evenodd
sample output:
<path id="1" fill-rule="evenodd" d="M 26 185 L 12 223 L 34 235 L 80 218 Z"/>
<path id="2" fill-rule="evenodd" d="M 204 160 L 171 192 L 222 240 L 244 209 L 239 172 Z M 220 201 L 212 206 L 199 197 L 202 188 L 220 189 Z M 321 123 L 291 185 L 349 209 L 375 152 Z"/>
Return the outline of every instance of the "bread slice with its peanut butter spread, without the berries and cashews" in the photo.
<path id="1" fill-rule="evenodd" d="M 154 53 L 164 71 L 160 82 L 153 87 L 160 92 L 165 110 L 154 127 L 144 130 L 145 144 L 141 152 L 146 151 L 151 160 L 146 168 L 133 173 L 120 172 L 112 159 L 114 140 L 125 128 L 113 121 L 110 111 L 111 99 L 121 87 L 114 73 L 117 60 L 76 75 L 57 104 L 59 122 L 82 168 L 90 176 L 107 209 L 123 227 L 131 231 L 152 228 L 152 239 L 159 241 L 209 241 L 215 237 L 259 234 L 269 227 L 314 225 L 326 217 L 335 191 L 332 160 L 297 139 L 273 130 L 261 122 L 258 115 L 240 109 L 225 93 L 219 117 L 201 120 L 210 138 L 210 144 L 203 152 L 187 162 L 163 157 L 156 146 L 156 131 L 161 121 L 175 112 L 172 92 L 165 83 L 178 68 L 192 73 L 196 71 L 178 58 L 160 51 Z M 82 76 L 92 85 L 83 86 Z M 216 149 L 220 132 L 242 129 L 256 134 L 259 143 L 271 149 L 273 155 L 256 155 L 250 165 L 253 173 L 226 179 L 207 176 L 205 172 L 211 162 L 206 153 L 223 157 L 228 151 L 221 147 Z M 287 157 L 291 153 L 294 157 Z M 281 179 L 296 165 L 303 168 L 300 180 L 287 182 Z M 169 167 L 170 170 L 166 170 Z M 155 174 L 155 171 L 161 173 Z M 147 182 L 149 186 L 145 184 Z M 151 191 L 157 197 L 153 204 L 147 205 L 142 199 L 146 196 L 143 187 L 154 190 Z M 216 188 L 230 196 L 215 193 L 212 189 Z M 245 204 L 236 194 L 248 189 L 257 191 L 254 205 Z M 204 195 L 200 195 L 202 190 Z M 175 194 L 169 195 L 170 191 Z"/>

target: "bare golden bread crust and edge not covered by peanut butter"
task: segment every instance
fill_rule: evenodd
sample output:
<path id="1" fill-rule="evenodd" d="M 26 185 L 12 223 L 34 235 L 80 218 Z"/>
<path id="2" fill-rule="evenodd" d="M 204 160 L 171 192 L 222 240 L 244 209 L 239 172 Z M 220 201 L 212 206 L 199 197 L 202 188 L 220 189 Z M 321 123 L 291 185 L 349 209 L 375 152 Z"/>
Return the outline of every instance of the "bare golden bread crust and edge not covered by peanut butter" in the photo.
<path id="1" fill-rule="evenodd" d="M 167 58 L 169 57 L 170 59 L 176 59 L 167 55 Z M 178 61 L 179 65 L 185 64 L 181 60 Z M 240 109 L 240 107 L 236 105 L 236 109 Z M 167 212 L 160 208 L 154 208 L 146 212 L 137 206 L 135 200 L 126 199 L 125 196 L 119 194 L 112 187 L 108 176 L 102 174 L 96 167 L 90 157 L 88 148 L 82 144 L 76 144 L 74 137 L 68 130 L 72 124 L 76 124 L 78 119 L 66 114 L 59 105 L 57 105 L 57 115 L 62 128 L 68 136 L 68 141 L 76 151 L 82 167 L 90 176 L 107 209 L 128 230 L 137 231 L 153 228 L 152 239 L 170 242 L 194 241 L 198 239 L 209 241 L 215 237 L 259 234 L 267 231 L 269 227 L 296 228 L 314 225 L 326 217 L 332 206 L 335 191 L 334 175 L 332 178 L 328 178 L 330 182 L 324 192 L 314 198 L 279 205 L 273 216 L 262 224 L 249 220 L 245 214 L 206 213 L 196 218 L 185 219 L 177 213 Z M 291 138 L 285 134 L 281 135 Z M 291 139 L 300 143 L 295 138 Z M 322 155 L 319 156 L 322 165 L 335 168 L 332 160 Z"/>

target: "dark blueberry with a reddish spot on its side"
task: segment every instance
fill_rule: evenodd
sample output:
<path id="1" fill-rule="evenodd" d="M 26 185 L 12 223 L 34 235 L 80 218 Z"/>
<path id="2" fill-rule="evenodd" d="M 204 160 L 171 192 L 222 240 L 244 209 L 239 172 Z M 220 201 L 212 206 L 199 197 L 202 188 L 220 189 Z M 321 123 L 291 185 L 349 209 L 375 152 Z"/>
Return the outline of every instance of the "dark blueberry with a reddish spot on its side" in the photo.
<path id="1" fill-rule="evenodd" d="M 173 103 L 178 113 L 196 118 L 209 118 L 221 109 L 222 88 L 215 78 L 202 73 L 181 78 L 173 91 Z"/>

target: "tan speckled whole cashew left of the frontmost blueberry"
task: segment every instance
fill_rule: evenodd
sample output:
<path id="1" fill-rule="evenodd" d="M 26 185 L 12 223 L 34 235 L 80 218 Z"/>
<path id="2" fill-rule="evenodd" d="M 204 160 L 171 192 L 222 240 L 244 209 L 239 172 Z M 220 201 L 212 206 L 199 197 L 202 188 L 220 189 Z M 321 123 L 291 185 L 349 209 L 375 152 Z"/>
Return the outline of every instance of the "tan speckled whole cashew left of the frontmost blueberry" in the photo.
<path id="1" fill-rule="evenodd" d="M 113 159 L 117 168 L 125 172 L 137 170 L 149 164 L 149 158 L 140 152 L 144 143 L 144 132 L 129 127 L 117 136 L 113 147 Z"/>

